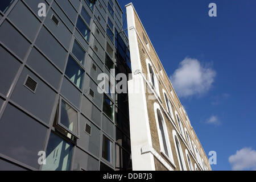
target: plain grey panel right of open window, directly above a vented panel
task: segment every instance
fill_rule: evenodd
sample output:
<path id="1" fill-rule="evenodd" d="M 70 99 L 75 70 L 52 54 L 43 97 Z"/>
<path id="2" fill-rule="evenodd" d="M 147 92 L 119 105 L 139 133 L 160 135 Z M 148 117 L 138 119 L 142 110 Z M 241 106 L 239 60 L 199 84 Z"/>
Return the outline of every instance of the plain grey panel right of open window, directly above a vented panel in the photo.
<path id="1" fill-rule="evenodd" d="M 101 116 L 102 113 L 92 104 L 86 97 L 82 97 L 81 112 L 91 119 L 98 127 L 101 127 Z"/>

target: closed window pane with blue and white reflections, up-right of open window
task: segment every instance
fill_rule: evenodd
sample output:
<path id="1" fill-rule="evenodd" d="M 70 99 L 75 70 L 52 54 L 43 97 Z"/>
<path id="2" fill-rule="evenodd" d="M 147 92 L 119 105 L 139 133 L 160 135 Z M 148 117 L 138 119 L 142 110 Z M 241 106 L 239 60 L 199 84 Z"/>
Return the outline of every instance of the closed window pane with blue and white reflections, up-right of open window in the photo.
<path id="1" fill-rule="evenodd" d="M 84 70 L 79 67 L 75 60 L 69 56 L 65 75 L 80 89 L 82 89 L 82 81 L 84 80 Z"/>

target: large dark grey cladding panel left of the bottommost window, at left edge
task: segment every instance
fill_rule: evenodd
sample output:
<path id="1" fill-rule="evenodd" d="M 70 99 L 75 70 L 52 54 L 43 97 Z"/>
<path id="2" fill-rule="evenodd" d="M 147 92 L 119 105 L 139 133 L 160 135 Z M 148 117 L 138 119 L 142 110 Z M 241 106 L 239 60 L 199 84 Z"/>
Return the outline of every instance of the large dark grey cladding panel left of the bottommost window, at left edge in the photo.
<path id="1" fill-rule="evenodd" d="M 46 133 L 46 127 L 7 105 L 0 121 L 0 152 L 39 169 L 38 152 L 44 149 Z"/>

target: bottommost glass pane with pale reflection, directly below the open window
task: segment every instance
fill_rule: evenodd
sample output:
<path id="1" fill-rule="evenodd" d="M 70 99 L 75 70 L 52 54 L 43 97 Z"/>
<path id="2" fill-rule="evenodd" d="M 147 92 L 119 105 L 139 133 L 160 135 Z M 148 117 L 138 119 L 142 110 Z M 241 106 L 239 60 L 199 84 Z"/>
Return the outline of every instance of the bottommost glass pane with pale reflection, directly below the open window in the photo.
<path id="1" fill-rule="evenodd" d="M 51 133 L 46 150 L 43 171 L 68 171 L 71 166 L 73 145 Z"/>

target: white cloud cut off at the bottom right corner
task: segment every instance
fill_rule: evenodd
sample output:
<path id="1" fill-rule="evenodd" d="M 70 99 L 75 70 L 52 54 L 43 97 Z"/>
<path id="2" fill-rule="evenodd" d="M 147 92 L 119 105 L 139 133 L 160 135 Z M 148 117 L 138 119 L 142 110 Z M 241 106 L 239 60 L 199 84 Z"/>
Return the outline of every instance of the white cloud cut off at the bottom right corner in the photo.
<path id="1" fill-rule="evenodd" d="M 251 148 L 242 148 L 229 157 L 233 170 L 256 170 L 256 151 Z"/>

